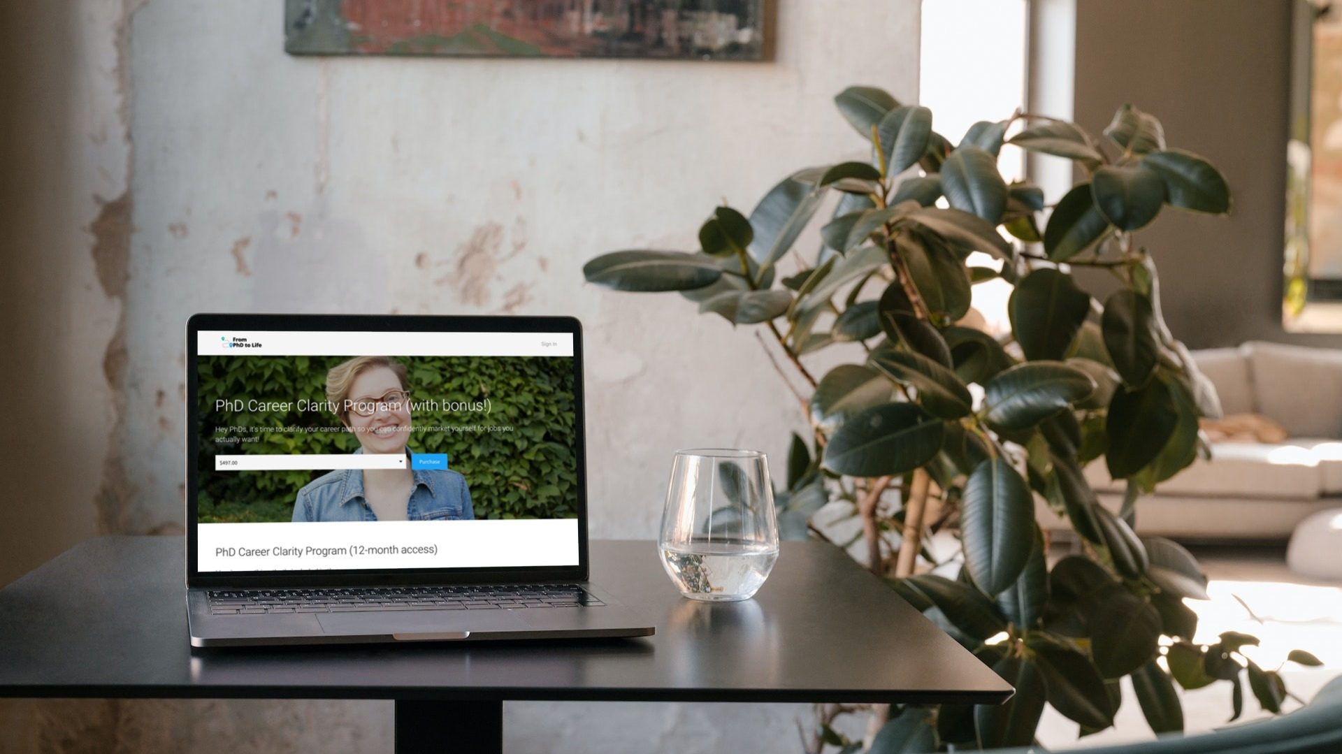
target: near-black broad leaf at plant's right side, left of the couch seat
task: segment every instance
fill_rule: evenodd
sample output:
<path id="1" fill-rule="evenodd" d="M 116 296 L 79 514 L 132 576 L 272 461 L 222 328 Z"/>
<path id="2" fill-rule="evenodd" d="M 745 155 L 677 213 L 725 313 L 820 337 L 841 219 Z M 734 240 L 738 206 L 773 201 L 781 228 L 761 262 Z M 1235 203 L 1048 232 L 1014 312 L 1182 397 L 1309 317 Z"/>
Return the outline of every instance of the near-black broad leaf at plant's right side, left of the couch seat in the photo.
<path id="1" fill-rule="evenodd" d="M 1104 462 L 1113 479 L 1126 479 L 1155 460 L 1178 425 L 1178 407 L 1164 380 L 1137 390 L 1118 390 L 1108 404 Z"/>

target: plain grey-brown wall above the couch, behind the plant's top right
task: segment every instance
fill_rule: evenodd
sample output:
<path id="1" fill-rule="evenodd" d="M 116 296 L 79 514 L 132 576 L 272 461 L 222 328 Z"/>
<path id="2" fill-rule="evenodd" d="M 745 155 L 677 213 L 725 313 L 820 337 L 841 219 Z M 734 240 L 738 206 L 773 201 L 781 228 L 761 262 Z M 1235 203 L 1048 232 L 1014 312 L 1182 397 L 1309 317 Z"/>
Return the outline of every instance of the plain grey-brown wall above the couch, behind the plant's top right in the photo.
<path id="1" fill-rule="evenodd" d="M 1170 329 L 1192 347 L 1342 346 L 1282 327 L 1290 19 L 1284 0 L 1076 3 L 1076 121 L 1099 131 L 1131 102 L 1229 181 L 1231 217 L 1166 212 L 1138 233 Z"/>

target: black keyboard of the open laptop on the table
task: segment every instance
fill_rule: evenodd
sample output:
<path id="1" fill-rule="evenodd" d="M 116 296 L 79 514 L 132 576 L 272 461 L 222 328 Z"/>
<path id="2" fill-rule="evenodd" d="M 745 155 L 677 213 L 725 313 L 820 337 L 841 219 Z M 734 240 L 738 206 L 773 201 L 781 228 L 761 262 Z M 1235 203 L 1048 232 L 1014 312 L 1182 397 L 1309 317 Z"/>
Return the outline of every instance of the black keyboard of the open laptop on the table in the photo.
<path id="1" fill-rule="evenodd" d="M 601 608 L 577 584 L 499 586 L 361 586 L 350 589 L 212 589 L 211 614 L 352 613 Z"/>

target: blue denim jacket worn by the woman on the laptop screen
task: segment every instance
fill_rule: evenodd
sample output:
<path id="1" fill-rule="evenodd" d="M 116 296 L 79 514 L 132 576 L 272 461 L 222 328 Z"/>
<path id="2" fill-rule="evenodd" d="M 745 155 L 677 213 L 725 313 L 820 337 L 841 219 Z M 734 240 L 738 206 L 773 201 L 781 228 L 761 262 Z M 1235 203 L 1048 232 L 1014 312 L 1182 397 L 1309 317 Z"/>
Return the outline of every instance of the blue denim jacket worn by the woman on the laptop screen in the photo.
<path id="1" fill-rule="evenodd" d="M 354 452 L 361 452 L 362 448 Z M 466 478 L 451 470 L 415 470 L 411 498 L 405 503 L 409 521 L 474 519 L 471 491 Z M 377 521 L 364 499 L 364 472 L 338 468 L 313 479 L 294 500 L 294 521 Z"/>

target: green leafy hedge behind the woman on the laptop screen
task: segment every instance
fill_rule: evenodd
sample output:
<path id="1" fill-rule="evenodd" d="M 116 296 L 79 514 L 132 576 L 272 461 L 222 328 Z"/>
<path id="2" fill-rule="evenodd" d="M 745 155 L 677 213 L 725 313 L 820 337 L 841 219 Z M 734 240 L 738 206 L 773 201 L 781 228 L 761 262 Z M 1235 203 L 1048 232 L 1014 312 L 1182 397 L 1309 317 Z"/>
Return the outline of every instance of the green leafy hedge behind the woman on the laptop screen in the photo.
<path id="1" fill-rule="evenodd" d="M 325 412 L 219 413 L 217 400 L 326 400 L 326 372 L 349 357 L 200 357 L 203 523 L 290 521 L 298 490 L 323 471 L 215 471 L 216 453 L 350 453 L 349 432 L 259 432 L 216 441 L 219 427 L 338 427 Z M 573 518 L 577 460 L 572 357 L 393 357 L 409 370 L 413 401 L 490 398 L 488 415 L 413 412 L 415 427 L 513 425 L 513 432 L 412 432 L 415 452 L 447 453 L 471 488 L 475 518 Z M 252 433 L 240 435 L 243 437 Z"/>

